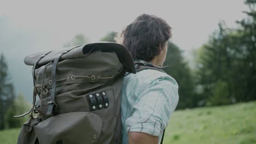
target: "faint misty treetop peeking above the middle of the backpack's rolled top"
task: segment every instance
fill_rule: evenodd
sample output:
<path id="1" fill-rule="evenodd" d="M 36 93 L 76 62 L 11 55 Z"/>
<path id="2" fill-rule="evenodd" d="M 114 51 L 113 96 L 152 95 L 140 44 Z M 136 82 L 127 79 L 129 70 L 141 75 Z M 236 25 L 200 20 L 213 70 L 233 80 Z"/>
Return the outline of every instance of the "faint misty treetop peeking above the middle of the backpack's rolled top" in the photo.
<path id="1" fill-rule="evenodd" d="M 70 47 L 76 45 L 83 45 L 89 43 L 89 38 L 85 37 L 83 34 L 77 34 L 68 43 L 64 44 L 63 47 Z"/>

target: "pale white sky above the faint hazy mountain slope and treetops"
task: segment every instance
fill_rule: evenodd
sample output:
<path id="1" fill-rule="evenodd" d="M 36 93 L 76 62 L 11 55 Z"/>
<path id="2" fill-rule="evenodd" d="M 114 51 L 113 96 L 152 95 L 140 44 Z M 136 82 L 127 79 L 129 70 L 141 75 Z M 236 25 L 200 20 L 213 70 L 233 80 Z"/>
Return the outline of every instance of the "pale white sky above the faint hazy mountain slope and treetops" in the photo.
<path id="1" fill-rule="evenodd" d="M 154 14 L 171 25 L 173 42 L 187 50 L 205 42 L 220 20 L 234 27 L 246 9 L 243 0 L 5 1 L 0 4 L 0 16 L 55 47 L 78 33 L 97 41 L 108 31 L 121 31 L 140 14 Z"/>

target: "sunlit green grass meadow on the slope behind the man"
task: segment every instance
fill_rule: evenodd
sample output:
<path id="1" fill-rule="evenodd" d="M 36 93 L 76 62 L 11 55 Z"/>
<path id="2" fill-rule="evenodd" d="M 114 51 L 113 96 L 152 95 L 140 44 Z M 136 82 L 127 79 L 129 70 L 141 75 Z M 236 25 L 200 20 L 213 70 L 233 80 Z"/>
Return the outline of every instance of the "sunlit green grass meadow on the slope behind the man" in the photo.
<path id="1" fill-rule="evenodd" d="M 0 143 L 16 143 L 18 134 L 0 131 Z M 164 143 L 256 143 L 256 101 L 175 111 Z"/>

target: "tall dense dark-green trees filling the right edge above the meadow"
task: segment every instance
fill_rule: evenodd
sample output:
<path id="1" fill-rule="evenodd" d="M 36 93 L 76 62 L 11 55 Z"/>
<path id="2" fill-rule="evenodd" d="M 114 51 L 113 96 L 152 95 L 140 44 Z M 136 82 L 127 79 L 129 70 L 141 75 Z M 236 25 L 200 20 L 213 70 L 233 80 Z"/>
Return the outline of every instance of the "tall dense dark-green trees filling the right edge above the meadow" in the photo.
<path id="1" fill-rule="evenodd" d="M 224 105 L 256 100 L 256 1 L 246 1 L 248 17 L 237 29 L 219 23 L 198 51 L 197 76 L 204 104 Z"/>

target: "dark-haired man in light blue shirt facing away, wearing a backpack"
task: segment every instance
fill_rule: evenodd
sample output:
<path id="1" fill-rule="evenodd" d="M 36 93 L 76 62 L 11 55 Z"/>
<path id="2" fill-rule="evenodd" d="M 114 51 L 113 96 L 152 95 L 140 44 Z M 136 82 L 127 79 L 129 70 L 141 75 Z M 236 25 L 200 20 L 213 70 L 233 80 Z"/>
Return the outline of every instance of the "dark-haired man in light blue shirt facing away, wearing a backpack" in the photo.
<path id="1" fill-rule="evenodd" d="M 123 45 L 135 61 L 161 67 L 171 27 L 154 15 L 137 17 L 123 33 Z M 121 94 L 123 143 L 160 143 L 178 103 L 178 84 L 159 70 L 144 69 L 124 77 Z"/>

